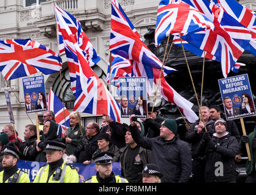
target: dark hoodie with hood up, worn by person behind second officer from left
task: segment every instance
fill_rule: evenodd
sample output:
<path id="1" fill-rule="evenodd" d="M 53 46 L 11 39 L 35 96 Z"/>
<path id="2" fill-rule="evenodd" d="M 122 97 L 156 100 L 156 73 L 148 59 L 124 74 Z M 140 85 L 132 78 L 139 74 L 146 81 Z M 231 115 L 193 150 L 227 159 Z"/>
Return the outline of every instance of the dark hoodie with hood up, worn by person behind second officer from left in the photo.
<path id="1" fill-rule="evenodd" d="M 31 157 L 35 157 L 35 161 L 39 161 L 39 162 L 47 162 L 47 158 L 44 152 L 45 146 L 46 146 L 45 141 L 51 140 L 51 141 L 61 142 L 61 138 L 57 136 L 58 127 L 56 126 L 56 122 L 52 120 L 47 120 L 47 121 L 50 121 L 50 129 L 47 135 L 42 135 L 42 137 L 40 137 L 40 143 L 38 144 L 38 147 L 40 147 L 42 151 L 38 152 L 36 150 L 37 144 L 35 142 L 33 149 L 29 152 L 29 155 Z"/>

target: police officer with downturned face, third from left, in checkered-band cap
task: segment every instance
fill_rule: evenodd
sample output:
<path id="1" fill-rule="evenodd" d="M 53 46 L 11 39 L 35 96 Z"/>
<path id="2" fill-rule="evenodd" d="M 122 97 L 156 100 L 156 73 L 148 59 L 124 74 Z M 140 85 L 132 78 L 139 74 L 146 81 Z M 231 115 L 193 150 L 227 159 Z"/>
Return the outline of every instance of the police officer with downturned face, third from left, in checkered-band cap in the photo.
<path id="1" fill-rule="evenodd" d="M 124 177 L 116 175 L 112 171 L 114 154 L 112 152 L 100 152 L 92 160 L 95 161 L 96 176 L 90 177 L 85 183 L 128 183 Z"/>

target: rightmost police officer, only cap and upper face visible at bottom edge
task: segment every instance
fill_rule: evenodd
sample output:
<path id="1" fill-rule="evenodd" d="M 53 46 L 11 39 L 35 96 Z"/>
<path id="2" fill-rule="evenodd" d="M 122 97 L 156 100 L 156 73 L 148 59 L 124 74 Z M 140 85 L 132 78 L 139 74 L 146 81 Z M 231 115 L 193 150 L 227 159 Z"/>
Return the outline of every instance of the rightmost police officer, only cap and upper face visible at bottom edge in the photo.
<path id="1" fill-rule="evenodd" d="M 143 183 L 161 183 L 160 178 L 163 177 L 159 166 L 155 164 L 146 164 L 141 174 Z"/>

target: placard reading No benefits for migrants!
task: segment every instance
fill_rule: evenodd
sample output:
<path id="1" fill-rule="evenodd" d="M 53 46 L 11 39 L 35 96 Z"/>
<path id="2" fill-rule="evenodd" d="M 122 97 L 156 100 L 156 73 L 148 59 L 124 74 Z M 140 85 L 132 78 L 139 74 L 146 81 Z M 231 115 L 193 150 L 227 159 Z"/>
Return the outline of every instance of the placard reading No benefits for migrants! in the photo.
<path id="1" fill-rule="evenodd" d="M 120 77 L 119 83 L 121 117 L 129 118 L 135 114 L 138 118 L 146 118 L 146 77 Z"/>

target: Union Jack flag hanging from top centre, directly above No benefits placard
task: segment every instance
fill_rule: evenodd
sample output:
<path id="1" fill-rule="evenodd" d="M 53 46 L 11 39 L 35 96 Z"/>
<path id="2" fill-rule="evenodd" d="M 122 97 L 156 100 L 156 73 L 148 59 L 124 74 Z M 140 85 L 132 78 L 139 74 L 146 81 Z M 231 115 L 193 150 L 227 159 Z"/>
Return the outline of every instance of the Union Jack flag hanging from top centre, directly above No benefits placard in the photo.
<path id="1" fill-rule="evenodd" d="M 146 66 L 161 69 L 162 62 L 143 43 L 140 35 L 132 23 L 130 23 L 118 1 L 112 0 L 111 7 L 109 49 L 112 54 L 120 55 L 125 59 L 135 60 Z"/>

